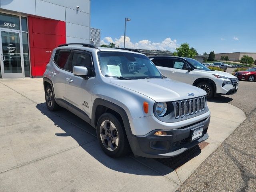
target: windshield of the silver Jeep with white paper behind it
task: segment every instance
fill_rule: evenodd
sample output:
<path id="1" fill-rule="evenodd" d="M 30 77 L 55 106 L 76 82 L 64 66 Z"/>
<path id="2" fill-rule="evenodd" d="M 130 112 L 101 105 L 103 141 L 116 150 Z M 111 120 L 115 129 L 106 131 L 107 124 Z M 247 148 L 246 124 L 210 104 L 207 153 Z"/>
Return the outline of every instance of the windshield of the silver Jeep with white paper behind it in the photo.
<path id="1" fill-rule="evenodd" d="M 153 62 L 146 56 L 127 52 L 98 52 L 104 76 L 127 79 L 162 78 Z"/>

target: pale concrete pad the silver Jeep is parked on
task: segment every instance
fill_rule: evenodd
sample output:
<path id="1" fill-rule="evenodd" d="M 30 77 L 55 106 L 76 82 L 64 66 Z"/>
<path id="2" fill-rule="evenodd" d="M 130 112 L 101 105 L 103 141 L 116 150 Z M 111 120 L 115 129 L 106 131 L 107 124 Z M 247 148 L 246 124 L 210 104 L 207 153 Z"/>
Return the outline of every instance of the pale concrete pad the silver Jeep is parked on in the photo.
<path id="1" fill-rule="evenodd" d="M 175 191 L 245 119 L 230 104 L 208 105 L 210 144 L 172 170 L 132 154 L 109 158 L 94 128 L 67 110 L 47 110 L 42 79 L 2 79 L 0 191 Z"/>

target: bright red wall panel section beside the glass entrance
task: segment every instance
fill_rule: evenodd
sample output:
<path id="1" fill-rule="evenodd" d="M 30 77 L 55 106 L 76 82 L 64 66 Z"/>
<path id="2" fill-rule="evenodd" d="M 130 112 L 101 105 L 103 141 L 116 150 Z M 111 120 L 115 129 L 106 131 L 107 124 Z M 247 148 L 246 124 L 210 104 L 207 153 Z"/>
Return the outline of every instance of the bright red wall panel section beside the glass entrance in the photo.
<path id="1" fill-rule="evenodd" d="M 63 21 L 28 17 L 31 76 L 44 74 L 52 50 L 66 43 L 66 23 Z"/>

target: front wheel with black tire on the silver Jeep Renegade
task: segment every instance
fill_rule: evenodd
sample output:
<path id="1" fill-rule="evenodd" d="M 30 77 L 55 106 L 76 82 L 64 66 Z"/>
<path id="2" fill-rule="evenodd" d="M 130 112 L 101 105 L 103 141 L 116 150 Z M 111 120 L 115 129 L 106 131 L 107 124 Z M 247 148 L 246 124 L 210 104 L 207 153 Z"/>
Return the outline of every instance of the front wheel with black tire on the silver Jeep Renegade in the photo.
<path id="1" fill-rule="evenodd" d="M 105 123 L 107 126 L 105 126 Z M 117 135 L 118 138 L 117 144 L 114 142 L 114 138 L 116 138 L 113 137 L 114 129 L 113 127 L 108 128 L 108 123 L 109 126 L 112 126 L 110 123 L 114 124 L 114 128 L 116 128 L 117 132 L 115 133 L 115 136 Z M 126 132 L 120 121 L 113 114 L 104 113 L 100 116 L 97 122 L 96 132 L 100 147 L 108 156 L 112 158 L 118 158 L 125 156 L 130 151 L 130 145 L 126 136 Z"/>

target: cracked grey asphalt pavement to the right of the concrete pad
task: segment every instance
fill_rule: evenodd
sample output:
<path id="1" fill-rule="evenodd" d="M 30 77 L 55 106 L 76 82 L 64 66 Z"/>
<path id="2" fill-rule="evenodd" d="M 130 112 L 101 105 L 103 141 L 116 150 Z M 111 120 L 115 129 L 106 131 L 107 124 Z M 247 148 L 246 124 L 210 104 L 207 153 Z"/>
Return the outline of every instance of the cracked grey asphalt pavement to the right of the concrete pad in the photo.
<path id="1" fill-rule="evenodd" d="M 247 118 L 177 191 L 255 192 L 256 82 L 240 81 L 236 94 L 211 101 L 228 102 L 237 106 L 245 112 Z"/>

